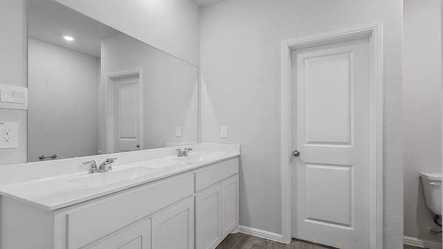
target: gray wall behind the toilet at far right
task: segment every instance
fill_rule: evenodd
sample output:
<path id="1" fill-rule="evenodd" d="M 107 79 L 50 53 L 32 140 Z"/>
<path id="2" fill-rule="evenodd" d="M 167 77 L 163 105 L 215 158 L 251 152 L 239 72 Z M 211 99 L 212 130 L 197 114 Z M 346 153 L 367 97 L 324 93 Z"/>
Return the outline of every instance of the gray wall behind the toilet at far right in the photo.
<path id="1" fill-rule="evenodd" d="M 442 171 L 440 0 L 404 0 L 404 235 L 442 242 L 426 207 L 419 172 Z"/>

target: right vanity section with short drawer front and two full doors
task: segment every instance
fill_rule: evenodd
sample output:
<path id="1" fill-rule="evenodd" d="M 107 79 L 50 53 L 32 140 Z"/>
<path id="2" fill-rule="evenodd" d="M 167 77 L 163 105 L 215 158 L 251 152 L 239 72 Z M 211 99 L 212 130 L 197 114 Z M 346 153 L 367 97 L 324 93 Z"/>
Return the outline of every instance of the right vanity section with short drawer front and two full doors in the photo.
<path id="1" fill-rule="evenodd" d="M 238 158 L 195 175 L 195 248 L 213 249 L 238 225 Z"/>

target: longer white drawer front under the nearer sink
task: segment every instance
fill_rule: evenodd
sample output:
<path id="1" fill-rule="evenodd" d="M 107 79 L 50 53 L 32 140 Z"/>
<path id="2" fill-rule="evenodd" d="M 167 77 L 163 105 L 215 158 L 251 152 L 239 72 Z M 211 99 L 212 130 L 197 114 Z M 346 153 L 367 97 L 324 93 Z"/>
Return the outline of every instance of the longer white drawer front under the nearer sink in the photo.
<path id="1" fill-rule="evenodd" d="M 189 172 L 75 209 L 66 214 L 67 247 L 80 248 L 190 195 Z"/>

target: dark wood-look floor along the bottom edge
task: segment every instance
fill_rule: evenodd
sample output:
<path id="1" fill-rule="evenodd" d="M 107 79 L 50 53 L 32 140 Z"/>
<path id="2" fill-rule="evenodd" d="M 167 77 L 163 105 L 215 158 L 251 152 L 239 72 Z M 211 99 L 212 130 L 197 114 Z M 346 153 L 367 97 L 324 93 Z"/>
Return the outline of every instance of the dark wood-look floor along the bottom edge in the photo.
<path id="1" fill-rule="evenodd" d="M 251 236 L 237 232 L 229 234 L 224 241 L 217 246 L 217 249 L 329 249 L 333 247 L 320 246 L 308 241 L 299 241 L 293 239 L 291 243 L 280 243 L 263 239 L 260 237 Z M 415 246 L 404 245 L 404 249 L 422 249 Z"/>

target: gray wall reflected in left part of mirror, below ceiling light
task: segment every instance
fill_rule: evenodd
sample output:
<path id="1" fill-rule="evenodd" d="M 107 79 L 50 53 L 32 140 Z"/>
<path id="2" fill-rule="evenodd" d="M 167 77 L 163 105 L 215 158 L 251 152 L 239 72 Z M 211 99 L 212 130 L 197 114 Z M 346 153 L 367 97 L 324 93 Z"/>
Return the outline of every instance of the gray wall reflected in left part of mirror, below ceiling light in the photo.
<path id="1" fill-rule="evenodd" d="M 29 39 L 28 161 L 98 150 L 100 59 Z"/>

